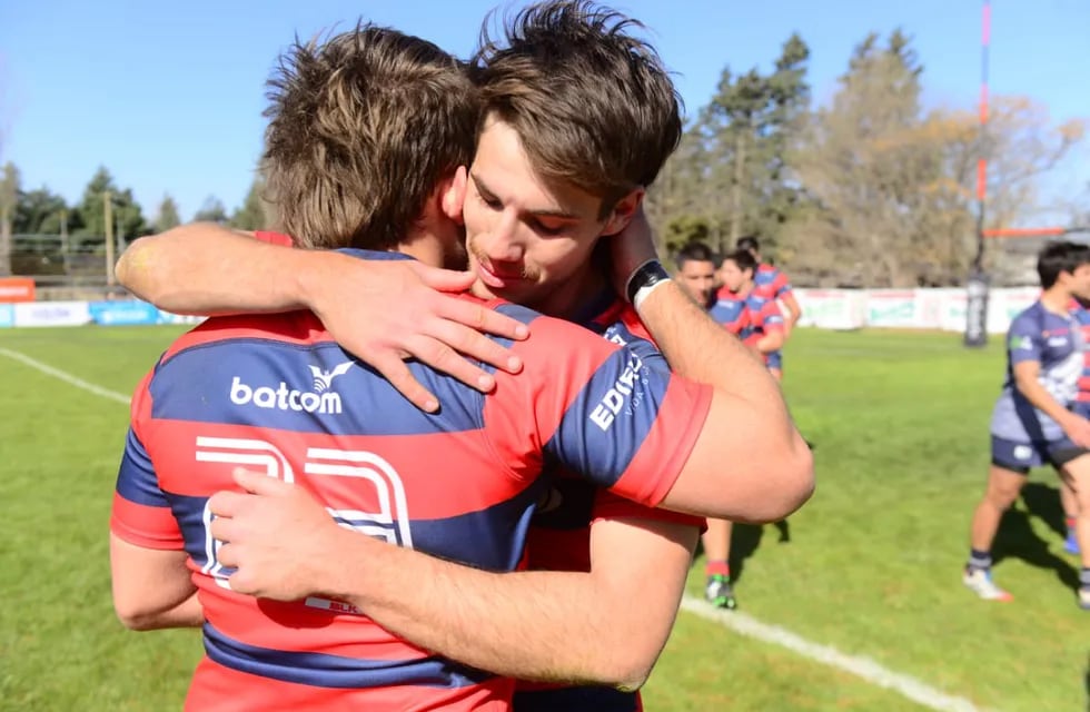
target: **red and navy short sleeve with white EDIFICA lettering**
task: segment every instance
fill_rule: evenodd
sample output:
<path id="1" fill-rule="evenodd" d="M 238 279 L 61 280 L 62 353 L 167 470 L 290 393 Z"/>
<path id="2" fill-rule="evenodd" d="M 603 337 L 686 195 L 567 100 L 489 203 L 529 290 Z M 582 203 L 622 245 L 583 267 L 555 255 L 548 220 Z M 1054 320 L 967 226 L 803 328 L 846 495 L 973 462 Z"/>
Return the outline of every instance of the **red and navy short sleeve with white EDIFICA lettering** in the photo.
<path id="1" fill-rule="evenodd" d="M 658 504 L 700 435 L 711 387 L 558 319 L 541 317 L 531 333 L 513 347 L 523 373 L 497 373 L 485 404 L 497 455 L 516 467 L 549 457 L 600 487 Z"/>

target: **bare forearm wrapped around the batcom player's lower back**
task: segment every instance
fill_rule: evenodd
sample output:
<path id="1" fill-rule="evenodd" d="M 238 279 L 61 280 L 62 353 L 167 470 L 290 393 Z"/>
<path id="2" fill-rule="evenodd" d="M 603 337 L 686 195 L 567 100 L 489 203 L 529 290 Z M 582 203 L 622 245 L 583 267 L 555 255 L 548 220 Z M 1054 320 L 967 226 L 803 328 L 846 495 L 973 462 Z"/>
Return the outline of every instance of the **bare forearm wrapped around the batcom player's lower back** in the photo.
<path id="1" fill-rule="evenodd" d="M 624 685 L 611 624 L 587 573 L 493 573 L 344 531 L 324 595 L 392 633 L 462 663 L 522 680 Z"/>

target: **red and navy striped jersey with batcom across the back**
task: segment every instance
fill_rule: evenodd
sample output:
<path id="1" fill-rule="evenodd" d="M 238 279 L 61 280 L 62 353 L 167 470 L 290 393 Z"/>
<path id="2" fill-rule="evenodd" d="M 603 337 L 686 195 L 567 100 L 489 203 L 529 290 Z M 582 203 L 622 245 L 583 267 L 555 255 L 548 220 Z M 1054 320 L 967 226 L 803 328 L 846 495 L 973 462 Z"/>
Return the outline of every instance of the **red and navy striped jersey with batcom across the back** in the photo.
<path id="1" fill-rule="evenodd" d="M 485 396 L 410 364 L 438 414 L 413 407 L 309 313 L 208 319 L 145 378 L 111 528 L 189 555 L 206 656 L 188 709 L 507 709 L 511 681 L 405 643 L 341 602 L 231 592 L 207 531 L 208 497 L 234 486 L 237 465 L 306 487 L 363 535 L 494 571 L 522 558 L 546 459 L 657 504 L 710 389 L 574 325 L 495 308 L 533 323 L 512 345 L 524 372 L 496 373 Z"/>

